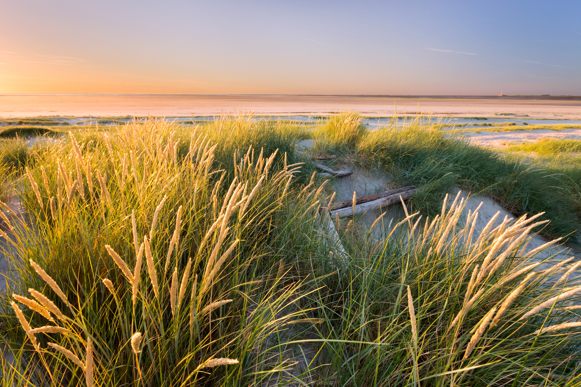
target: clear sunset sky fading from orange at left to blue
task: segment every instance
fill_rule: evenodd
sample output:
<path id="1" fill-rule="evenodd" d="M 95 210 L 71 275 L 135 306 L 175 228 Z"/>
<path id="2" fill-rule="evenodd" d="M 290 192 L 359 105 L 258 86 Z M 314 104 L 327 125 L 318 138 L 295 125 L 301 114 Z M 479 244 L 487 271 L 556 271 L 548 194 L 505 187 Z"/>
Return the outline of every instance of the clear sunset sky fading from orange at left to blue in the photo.
<path id="1" fill-rule="evenodd" d="M 0 0 L 0 93 L 581 95 L 581 1 Z"/>

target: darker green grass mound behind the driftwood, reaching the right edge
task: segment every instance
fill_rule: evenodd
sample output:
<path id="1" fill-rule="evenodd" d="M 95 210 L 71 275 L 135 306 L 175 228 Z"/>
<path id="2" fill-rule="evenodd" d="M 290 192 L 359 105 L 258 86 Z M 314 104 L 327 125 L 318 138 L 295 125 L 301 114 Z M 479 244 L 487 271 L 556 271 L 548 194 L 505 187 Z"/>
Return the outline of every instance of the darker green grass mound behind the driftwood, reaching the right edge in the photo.
<path id="1" fill-rule="evenodd" d="M 551 220 L 543 230 L 547 236 L 578 241 L 581 164 L 531 161 L 515 153 L 474 146 L 461 134 L 450 136 L 426 128 L 421 117 L 403 128 L 392 125 L 363 134 L 353 120 L 349 136 L 356 141 L 329 136 L 331 126 L 327 124 L 313 132 L 314 152 L 338 153 L 366 169 L 389 174 L 400 187 L 417 185 L 411 200 L 414 211 L 435 215 L 446 192 L 461 187 L 494 198 L 517 216 L 544 212 L 543 218 Z"/>

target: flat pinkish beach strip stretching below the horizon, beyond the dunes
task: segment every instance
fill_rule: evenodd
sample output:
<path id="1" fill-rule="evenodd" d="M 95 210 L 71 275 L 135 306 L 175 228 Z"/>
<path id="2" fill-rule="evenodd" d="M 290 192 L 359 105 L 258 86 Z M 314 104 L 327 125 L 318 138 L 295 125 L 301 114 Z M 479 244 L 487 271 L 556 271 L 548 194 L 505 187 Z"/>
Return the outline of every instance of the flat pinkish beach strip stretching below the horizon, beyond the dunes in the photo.
<path id="1" fill-rule="evenodd" d="M 364 115 L 431 112 L 455 117 L 516 114 L 581 119 L 578 96 L 309 96 L 309 95 L 91 95 L 2 94 L 0 117 L 209 116 L 241 109 L 257 114 L 329 114 L 354 109 Z"/>

